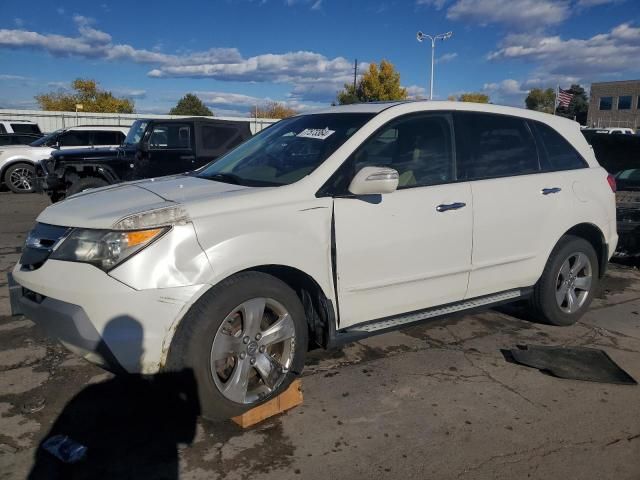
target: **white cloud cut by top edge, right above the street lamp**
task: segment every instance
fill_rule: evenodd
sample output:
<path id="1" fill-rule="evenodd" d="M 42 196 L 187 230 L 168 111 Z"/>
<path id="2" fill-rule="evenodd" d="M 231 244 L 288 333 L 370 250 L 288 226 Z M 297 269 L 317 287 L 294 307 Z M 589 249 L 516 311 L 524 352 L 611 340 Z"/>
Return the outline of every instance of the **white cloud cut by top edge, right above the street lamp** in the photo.
<path id="1" fill-rule="evenodd" d="M 467 23 L 502 24 L 515 29 L 535 29 L 562 23 L 570 15 L 568 0 L 457 0 L 447 18 Z"/>

